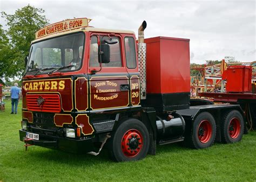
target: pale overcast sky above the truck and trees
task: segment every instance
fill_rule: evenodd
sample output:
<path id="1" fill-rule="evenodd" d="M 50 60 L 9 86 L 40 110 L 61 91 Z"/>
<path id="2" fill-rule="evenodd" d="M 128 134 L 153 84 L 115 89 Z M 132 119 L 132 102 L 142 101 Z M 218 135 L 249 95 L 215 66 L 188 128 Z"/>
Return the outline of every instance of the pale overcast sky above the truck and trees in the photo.
<path id="1" fill-rule="evenodd" d="M 146 20 L 145 38 L 188 38 L 191 62 L 198 64 L 225 56 L 256 60 L 255 1 L 0 0 L 0 11 L 13 14 L 28 4 L 44 9 L 50 23 L 87 17 L 93 19 L 91 26 L 133 30 L 136 37 Z M 5 25 L 3 18 L 1 24 Z"/>

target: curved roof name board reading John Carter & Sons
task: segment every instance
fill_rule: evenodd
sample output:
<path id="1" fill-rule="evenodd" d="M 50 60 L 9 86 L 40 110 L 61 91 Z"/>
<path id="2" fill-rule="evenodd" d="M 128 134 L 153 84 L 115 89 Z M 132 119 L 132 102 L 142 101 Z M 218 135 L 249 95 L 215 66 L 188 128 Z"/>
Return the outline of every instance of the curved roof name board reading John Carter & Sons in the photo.
<path id="1" fill-rule="evenodd" d="M 45 26 L 43 27 L 43 29 L 40 29 L 36 32 L 36 39 L 49 36 L 50 34 L 53 34 L 53 33 L 59 33 L 59 32 L 79 29 L 80 27 L 88 26 L 88 23 L 89 23 L 88 20 L 90 22 L 91 19 L 76 18 L 76 19 L 64 20 L 62 22 Z"/>

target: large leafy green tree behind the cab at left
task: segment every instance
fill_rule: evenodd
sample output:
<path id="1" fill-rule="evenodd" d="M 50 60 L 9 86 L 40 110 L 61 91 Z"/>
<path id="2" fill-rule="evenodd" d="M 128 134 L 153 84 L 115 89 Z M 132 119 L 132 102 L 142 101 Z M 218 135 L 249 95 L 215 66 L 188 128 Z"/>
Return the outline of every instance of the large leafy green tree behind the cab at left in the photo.
<path id="1" fill-rule="evenodd" d="M 6 46 L 3 50 L 0 48 L 0 54 L 5 55 L 0 57 L 3 62 L 0 78 L 20 77 L 25 68 L 24 58 L 29 54 L 30 42 L 35 39 L 36 31 L 47 25 L 49 20 L 43 15 L 43 9 L 31 5 L 16 10 L 14 15 L 1 13 L 6 19 L 8 30 L 3 31 L 6 33 Z"/>

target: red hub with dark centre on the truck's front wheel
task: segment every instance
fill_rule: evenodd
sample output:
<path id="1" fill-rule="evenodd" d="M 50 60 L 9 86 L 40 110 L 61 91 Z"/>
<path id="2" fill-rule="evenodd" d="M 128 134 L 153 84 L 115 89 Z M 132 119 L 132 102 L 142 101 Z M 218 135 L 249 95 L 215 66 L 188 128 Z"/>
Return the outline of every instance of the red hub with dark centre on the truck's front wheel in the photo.
<path id="1" fill-rule="evenodd" d="M 122 151 L 127 157 L 137 156 L 143 147 L 142 134 L 136 129 L 126 131 L 122 138 Z"/>

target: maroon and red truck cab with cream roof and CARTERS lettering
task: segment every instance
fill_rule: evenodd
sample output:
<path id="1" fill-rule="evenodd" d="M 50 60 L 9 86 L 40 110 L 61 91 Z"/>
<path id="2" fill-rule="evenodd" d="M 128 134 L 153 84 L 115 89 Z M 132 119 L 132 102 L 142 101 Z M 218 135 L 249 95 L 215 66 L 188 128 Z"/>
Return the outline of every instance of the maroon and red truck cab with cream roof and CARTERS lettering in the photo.
<path id="1" fill-rule="evenodd" d="M 81 20 L 88 22 L 87 18 L 75 19 L 57 23 L 57 27 Z M 67 137 L 90 138 L 95 132 L 110 131 L 114 113 L 140 107 L 139 93 L 133 31 L 97 29 L 86 23 L 57 32 L 56 24 L 50 25 L 39 30 L 31 43 L 22 86 L 26 131 L 20 131 L 21 140 L 31 132 L 41 136 L 34 143 L 48 147 L 45 141 L 49 140 L 57 147 L 65 145 Z M 92 150 L 61 148 L 78 153 Z"/>

